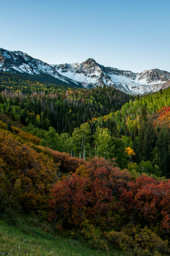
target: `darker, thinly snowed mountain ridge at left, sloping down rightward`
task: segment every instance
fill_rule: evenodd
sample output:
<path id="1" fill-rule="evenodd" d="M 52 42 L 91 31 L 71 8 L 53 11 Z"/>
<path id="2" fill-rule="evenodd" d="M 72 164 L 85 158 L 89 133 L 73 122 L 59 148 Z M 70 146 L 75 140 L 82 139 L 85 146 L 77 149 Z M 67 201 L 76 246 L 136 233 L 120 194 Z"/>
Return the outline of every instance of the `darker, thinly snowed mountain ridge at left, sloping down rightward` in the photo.
<path id="1" fill-rule="evenodd" d="M 34 59 L 21 51 L 7 51 L 0 48 L 0 70 L 3 72 L 21 73 L 31 78 L 35 77 L 44 83 L 82 87 L 81 84 L 59 74 L 52 65 L 39 59 Z"/>

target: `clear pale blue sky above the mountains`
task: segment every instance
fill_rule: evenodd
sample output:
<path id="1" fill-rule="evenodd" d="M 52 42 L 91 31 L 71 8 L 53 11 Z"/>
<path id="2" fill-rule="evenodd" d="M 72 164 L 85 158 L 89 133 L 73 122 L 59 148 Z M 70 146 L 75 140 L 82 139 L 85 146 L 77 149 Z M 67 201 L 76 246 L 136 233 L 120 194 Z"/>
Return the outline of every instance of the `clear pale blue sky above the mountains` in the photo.
<path id="1" fill-rule="evenodd" d="M 0 47 L 51 64 L 170 72 L 169 0 L 0 0 Z"/>

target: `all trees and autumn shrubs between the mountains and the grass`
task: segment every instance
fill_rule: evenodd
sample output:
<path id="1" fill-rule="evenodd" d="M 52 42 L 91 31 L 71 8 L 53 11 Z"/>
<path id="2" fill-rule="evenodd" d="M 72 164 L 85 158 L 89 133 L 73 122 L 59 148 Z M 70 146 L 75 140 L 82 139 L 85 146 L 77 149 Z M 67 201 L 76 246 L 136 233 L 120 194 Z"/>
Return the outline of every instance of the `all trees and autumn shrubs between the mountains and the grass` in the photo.
<path id="1" fill-rule="evenodd" d="M 170 253 L 170 89 L 129 96 L 0 73 L 0 216 L 133 255 Z"/>

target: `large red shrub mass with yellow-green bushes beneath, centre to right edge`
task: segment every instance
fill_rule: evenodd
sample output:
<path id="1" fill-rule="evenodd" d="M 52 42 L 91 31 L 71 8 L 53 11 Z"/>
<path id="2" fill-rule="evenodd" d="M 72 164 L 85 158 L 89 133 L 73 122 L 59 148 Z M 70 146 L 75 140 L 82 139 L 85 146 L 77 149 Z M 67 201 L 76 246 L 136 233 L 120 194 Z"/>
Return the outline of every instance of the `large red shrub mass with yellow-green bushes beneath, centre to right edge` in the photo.
<path id="1" fill-rule="evenodd" d="M 92 158 L 52 188 L 50 220 L 75 229 L 95 248 L 118 247 L 134 255 L 169 253 L 170 182 Z"/>

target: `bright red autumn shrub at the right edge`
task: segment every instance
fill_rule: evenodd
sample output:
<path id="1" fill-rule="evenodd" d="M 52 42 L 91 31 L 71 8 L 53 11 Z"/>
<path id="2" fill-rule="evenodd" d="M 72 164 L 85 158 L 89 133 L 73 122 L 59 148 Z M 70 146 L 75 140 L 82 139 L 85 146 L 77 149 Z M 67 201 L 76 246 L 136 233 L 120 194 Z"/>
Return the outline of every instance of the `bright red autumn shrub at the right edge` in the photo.
<path id="1" fill-rule="evenodd" d="M 129 182 L 128 188 L 120 195 L 122 204 L 129 214 L 131 224 L 141 223 L 143 227 L 157 228 L 157 231 L 170 229 L 170 180 L 156 181 L 147 175 Z"/>

